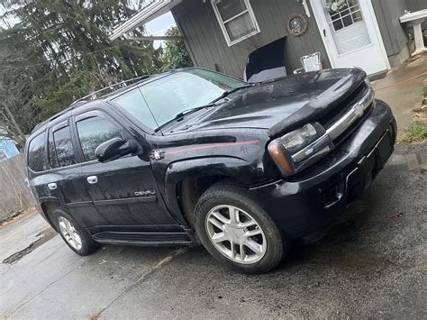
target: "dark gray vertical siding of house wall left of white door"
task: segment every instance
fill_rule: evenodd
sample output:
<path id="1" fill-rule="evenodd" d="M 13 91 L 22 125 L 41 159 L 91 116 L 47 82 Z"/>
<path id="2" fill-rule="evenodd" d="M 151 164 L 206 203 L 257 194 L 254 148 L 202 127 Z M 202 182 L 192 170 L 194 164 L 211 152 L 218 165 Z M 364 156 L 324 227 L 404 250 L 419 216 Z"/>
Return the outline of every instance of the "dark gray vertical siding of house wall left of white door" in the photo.
<path id="1" fill-rule="evenodd" d="M 186 37 L 186 45 L 195 65 L 241 78 L 251 51 L 287 36 L 285 50 L 288 74 L 301 68 L 300 57 L 315 51 L 321 52 L 323 67 L 331 67 L 313 14 L 308 19 L 308 30 L 303 36 L 287 34 L 288 15 L 304 13 L 301 1 L 251 0 L 250 4 L 260 32 L 232 47 L 227 45 L 223 37 L 210 1 L 184 0 L 172 9 L 178 27 Z"/>

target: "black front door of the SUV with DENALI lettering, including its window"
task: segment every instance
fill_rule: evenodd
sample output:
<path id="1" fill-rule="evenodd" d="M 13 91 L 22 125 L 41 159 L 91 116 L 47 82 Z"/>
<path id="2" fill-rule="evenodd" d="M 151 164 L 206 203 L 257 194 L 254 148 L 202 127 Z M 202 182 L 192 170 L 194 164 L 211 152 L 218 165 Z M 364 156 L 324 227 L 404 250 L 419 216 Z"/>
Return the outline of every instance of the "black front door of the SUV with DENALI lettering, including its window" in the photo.
<path id="1" fill-rule="evenodd" d="M 125 156 L 101 163 L 95 149 L 114 137 L 123 137 L 123 127 L 101 111 L 77 114 L 74 117 L 76 140 L 81 152 L 85 189 L 90 194 L 102 219 L 96 224 L 144 225 L 177 224 L 168 214 L 159 194 L 150 161 Z M 130 135 L 125 134 L 125 139 Z"/>

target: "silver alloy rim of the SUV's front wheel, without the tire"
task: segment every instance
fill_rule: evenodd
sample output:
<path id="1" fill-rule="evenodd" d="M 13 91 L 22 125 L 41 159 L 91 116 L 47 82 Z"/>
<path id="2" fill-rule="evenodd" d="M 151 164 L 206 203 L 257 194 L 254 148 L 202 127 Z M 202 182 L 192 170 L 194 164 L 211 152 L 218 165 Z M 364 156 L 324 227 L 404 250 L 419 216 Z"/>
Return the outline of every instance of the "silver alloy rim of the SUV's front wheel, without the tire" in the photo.
<path id="1" fill-rule="evenodd" d="M 251 264 L 266 254 L 267 240 L 259 223 L 237 206 L 213 207 L 204 226 L 213 246 L 231 261 Z"/>

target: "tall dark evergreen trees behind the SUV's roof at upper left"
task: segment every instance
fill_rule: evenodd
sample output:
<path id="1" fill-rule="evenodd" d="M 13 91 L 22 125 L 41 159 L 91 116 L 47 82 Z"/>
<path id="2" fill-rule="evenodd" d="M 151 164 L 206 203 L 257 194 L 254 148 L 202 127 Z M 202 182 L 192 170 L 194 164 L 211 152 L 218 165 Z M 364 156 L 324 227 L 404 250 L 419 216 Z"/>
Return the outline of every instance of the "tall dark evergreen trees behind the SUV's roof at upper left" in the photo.
<path id="1" fill-rule="evenodd" d="M 18 23 L 0 30 L 0 91 L 14 114 L 31 109 L 32 126 L 72 101 L 122 79 L 155 72 L 152 44 L 108 40 L 134 10 L 128 0 L 2 0 Z M 141 28 L 132 35 L 141 35 Z M 19 85 L 19 86 L 18 86 Z M 14 91 L 14 86 L 20 87 Z M 14 91 L 14 93 L 13 93 Z M 12 100 L 13 103 L 11 102 Z"/>

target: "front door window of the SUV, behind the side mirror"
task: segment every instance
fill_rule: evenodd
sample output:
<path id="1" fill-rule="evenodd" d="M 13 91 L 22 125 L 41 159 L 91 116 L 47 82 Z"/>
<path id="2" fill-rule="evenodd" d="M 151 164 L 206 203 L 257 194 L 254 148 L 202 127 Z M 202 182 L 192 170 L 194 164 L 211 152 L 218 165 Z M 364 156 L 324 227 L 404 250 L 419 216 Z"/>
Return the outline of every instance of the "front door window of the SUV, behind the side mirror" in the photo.
<path id="1" fill-rule="evenodd" d="M 103 142 L 122 136 L 122 130 L 100 116 L 77 122 L 77 133 L 86 160 L 95 160 L 95 150 Z"/>

